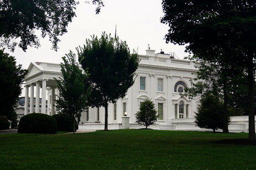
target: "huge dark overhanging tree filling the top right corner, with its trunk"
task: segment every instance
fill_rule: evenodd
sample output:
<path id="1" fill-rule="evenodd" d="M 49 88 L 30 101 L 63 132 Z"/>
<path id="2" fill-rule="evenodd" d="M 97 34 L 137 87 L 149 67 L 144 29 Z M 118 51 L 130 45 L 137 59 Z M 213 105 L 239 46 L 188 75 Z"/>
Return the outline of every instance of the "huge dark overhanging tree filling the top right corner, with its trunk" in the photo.
<path id="1" fill-rule="evenodd" d="M 187 44 L 186 51 L 200 59 L 247 71 L 249 139 L 255 140 L 256 1 L 163 0 L 162 7 L 161 22 L 170 26 L 167 42 Z"/>

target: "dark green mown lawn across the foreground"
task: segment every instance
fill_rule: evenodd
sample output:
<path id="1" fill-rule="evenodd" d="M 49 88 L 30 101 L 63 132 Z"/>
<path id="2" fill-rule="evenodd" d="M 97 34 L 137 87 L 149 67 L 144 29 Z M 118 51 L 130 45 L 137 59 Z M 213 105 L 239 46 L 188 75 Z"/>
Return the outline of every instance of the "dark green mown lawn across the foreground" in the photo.
<path id="1" fill-rule="evenodd" d="M 214 143 L 247 137 L 160 130 L 0 134 L 0 169 L 256 169 L 255 145 Z"/>

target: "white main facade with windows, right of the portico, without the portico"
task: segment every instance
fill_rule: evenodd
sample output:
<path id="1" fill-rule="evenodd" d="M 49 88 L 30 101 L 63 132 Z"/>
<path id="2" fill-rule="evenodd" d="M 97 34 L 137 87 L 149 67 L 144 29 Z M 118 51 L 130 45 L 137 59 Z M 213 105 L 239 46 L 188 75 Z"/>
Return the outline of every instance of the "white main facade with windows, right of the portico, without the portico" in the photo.
<path id="1" fill-rule="evenodd" d="M 173 119 L 193 118 L 197 110 L 197 101 L 181 97 L 178 92 L 190 87 L 192 73 L 197 69 L 192 61 L 173 59 L 166 54 L 156 54 L 155 50 L 146 50 L 146 55 L 139 55 L 140 63 L 136 71 L 134 85 L 129 88 L 125 98 L 116 105 L 109 104 L 108 122 L 121 123 L 127 113 L 130 123 L 135 123 L 135 114 L 140 103 L 151 99 L 160 114 L 157 124 L 171 125 Z M 81 116 L 80 124 L 104 123 L 105 108 L 89 108 L 89 114 Z"/>

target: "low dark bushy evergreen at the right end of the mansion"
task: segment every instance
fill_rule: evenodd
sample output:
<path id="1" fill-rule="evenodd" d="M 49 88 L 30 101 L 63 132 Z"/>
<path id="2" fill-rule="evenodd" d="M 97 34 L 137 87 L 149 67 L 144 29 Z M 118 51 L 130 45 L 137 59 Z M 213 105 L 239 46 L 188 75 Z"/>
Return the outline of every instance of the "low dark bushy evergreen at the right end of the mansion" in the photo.
<path id="1" fill-rule="evenodd" d="M 206 94 L 200 102 L 201 105 L 194 116 L 197 126 L 212 129 L 214 132 L 217 129 L 223 129 L 223 102 L 212 94 Z"/>

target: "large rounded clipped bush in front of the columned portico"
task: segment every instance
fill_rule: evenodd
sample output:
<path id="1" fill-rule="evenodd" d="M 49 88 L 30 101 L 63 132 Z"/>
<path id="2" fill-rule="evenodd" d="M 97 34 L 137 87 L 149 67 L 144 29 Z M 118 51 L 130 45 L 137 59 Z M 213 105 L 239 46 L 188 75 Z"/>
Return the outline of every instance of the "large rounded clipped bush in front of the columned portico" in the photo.
<path id="1" fill-rule="evenodd" d="M 18 133 L 56 134 L 57 122 L 41 113 L 27 114 L 19 120 Z"/>

